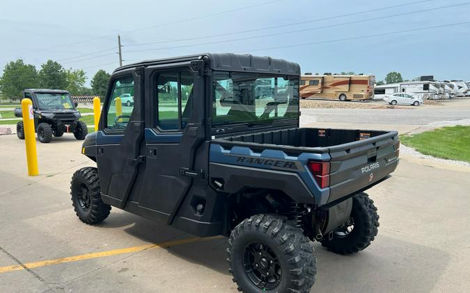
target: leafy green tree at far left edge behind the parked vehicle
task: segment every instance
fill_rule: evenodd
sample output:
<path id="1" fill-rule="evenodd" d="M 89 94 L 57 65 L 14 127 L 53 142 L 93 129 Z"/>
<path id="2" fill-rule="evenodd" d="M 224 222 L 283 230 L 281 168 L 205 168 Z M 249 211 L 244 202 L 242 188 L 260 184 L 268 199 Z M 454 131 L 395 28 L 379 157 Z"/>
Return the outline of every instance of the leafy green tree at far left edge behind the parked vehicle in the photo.
<path id="1" fill-rule="evenodd" d="M 3 98 L 21 97 L 22 90 L 38 87 L 38 71 L 34 65 L 24 64 L 22 59 L 8 62 L 0 78 Z"/>

